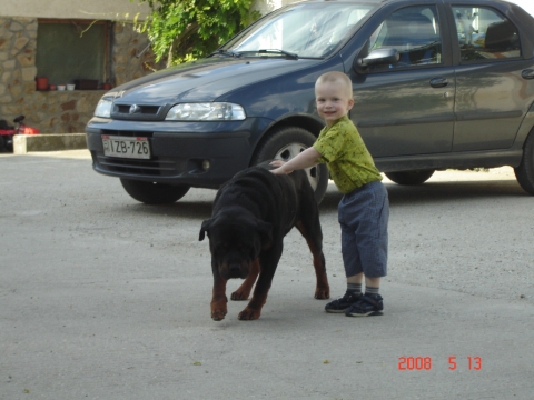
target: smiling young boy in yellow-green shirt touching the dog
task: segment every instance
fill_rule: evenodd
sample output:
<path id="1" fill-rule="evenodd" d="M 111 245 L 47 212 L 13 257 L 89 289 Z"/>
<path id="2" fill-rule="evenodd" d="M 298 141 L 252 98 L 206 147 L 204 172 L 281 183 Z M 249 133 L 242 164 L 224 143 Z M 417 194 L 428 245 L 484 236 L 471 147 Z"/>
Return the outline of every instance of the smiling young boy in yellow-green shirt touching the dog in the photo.
<path id="1" fill-rule="evenodd" d="M 330 177 L 344 193 L 338 206 L 342 253 L 347 292 L 325 306 L 327 312 L 347 317 L 382 316 L 380 278 L 387 273 L 389 201 L 382 176 L 348 119 L 354 106 L 353 84 L 343 72 L 327 72 L 315 84 L 317 112 L 325 120 L 313 147 L 291 160 L 273 161 L 275 174 L 291 173 L 326 162 Z M 365 294 L 362 283 L 365 278 Z"/>

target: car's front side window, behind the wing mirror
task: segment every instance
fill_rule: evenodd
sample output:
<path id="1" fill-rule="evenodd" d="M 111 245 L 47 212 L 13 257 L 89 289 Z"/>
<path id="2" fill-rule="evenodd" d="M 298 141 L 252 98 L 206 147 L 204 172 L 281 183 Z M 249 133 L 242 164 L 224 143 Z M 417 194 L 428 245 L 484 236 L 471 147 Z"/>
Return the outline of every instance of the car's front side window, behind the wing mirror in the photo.
<path id="1" fill-rule="evenodd" d="M 369 38 L 369 51 L 396 49 L 399 60 L 369 71 L 442 63 L 439 19 L 433 6 L 406 7 L 390 13 Z"/>

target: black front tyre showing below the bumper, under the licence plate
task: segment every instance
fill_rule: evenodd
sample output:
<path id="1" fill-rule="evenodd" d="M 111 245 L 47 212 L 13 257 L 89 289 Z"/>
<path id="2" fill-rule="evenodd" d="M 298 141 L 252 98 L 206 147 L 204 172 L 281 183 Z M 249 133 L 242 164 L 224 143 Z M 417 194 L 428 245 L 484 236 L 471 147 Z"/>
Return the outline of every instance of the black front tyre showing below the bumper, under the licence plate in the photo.
<path id="1" fill-rule="evenodd" d="M 188 186 L 175 186 L 120 178 L 122 188 L 137 201 L 146 204 L 168 204 L 181 199 L 189 191 Z"/>

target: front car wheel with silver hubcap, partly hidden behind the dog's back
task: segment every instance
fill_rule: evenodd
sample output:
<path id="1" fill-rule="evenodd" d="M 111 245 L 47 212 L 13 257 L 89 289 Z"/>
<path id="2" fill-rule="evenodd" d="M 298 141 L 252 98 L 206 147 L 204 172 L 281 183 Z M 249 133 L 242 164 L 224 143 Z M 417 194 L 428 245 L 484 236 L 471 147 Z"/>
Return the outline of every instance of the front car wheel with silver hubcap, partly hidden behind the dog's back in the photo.
<path id="1" fill-rule="evenodd" d="M 253 166 L 267 160 L 290 160 L 301 151 L 314 144 L 317 138 L 309 131 L 298 127 L 280 127 L 275 129 L 261 142 L 253 159 Z M 320 203 L 328 187 L 328 169 L 320 163 L 307 168 L 309 183 L 315 192 L 315 200 Z"/>

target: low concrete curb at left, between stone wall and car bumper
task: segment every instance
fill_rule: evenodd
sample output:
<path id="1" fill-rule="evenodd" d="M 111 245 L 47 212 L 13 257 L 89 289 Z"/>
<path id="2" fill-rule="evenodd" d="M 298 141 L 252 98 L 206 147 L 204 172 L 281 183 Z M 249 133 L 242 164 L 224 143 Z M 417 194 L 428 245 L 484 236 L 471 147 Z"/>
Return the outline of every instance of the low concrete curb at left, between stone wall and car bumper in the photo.
<path id="1" fill-rule="evenodd" d="M 13 154 L 87 149 L 86 133 L 16 134 Z"/>

